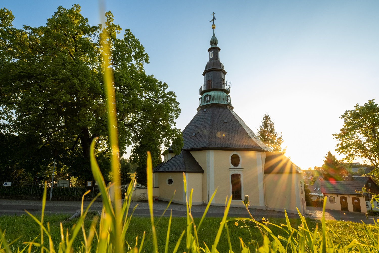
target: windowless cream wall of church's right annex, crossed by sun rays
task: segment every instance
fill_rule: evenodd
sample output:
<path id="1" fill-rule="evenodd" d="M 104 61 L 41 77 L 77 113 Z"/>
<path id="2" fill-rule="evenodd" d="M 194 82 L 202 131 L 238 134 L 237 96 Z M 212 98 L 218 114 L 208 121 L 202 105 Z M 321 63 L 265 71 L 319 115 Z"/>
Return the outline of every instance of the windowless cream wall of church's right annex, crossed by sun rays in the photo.
<path id="1" fill-rule="evenodd" d="M 301 203 L 302 198 L 305 201 L 304 182 L 302 181 L 301 187 L 300 181 L 302 181 L 302 177 L 296 173 L 265 174 L 266 205 L 269 209 L 297 213 L 296 207 L 298 207 L 299 211 L 304 214 Z M 301 193 L 301 189 L 303 189 L 303 193 Z M 306 208 L 304 202 L 305 212 L 307 212 Z"/>

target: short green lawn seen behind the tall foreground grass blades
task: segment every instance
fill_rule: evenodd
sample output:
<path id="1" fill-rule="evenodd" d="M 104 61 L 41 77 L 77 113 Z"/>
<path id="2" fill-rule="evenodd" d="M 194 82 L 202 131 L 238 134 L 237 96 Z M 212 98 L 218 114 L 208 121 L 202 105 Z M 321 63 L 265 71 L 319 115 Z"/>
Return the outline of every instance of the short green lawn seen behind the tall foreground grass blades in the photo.
<path id="1" fill-rule="evenodd" d="M 91 225 L 92 219 L 94 218 L 94 213 L 89 213 L 84 221 L 85 228 L 88 229 Z M 52 235 L 52 240 L 54 242 L 54 245 L 58 245 L 60 242 L 60 228 L 59 223 L 62 222 L 63 230 L 66 231 L 66 229 L 72 228 L 72 226 L 78 221 L 78 219 L 68 220 L 70 215 L 46 215 L 44 218 L 44 223 L 47 224 L 49 222 L 50 225 L 50 231 Z M 40 217 L 38 217 L 40 218 Z M 199 241 L 204 246 L 205 242 L 207 245 L 212 245 L 213 240 L 216 236 L 216 233 L 218 231 L 220 222 L 222 218 L 205 218 L 202 228 L 200 228 L 200 231 L 198 231 L 199 235 Z M 166 244 L 166 233 L 167 233 L 167 226 L 168 226 L 168 217 L 163 217 L 159 224 L 156 226 L 157 230 L 157 240 L 158 240 L 158 251 L 164 252 L 164 245 Z M 200 218 L 195 218 L 195 223 L 198 224 L 200 221 Z M 158 221 L 158 218 L 155 218 L 155 222 Z M 280 223 L 285 223 L 284 218 L 271 218 L 269 220 L 271 223 L 280 225 Z M 297 219 L 290 219 L 291 226 L 293 228 L 298 227 L 301 225 L 301 221 L 299 218 Z M 307 224 L 310 229 L 316 228 L 316 224 L 319 223 L 319 229 L 321 229 L 321 222 L 318 220 L 311 220 L 307 218 Z M 351 227 L 348 224 L 358 226 L 359 228 L 363 228 L 363 225 L 360 223 L 354 223 L 354 222 L 347 222 L 346 224 L 341 223 L 327 223 L 329 228 L 331 228 L 333 231 L 342 231 L 349 233 L 351 232 Z M 179 238 L 180 234 L 183 232 L 183 228 L 186 227 L 186 217 L 173 217 L 171 221 L 171 230 L 170 230 L 170 241 L 169 241 L 169 252 L 172 252 L 172 250 L 175 247 L 175 243 L 177 239 Z M 239 252 L 240 243 L 238 237 L 241 237 L 244 242 L 250 243 L 249 248 L 252 252 L 255 251 L 255 246 L 257 243 L 261 246 L 262 245 L 262 236 L 260 235 L 260 232 L 257 228 L 254 227 L 252 224 L 247 224 L 247 227 L 242 223 L 239 222 L 238 226 L 235 226 L 234 223 L 229 223 L 229 232 L 230 232 L 230 239 L 232 242 L 232 247 L 235 252 Z M 27 242 L 33 240 L 35 237 L 39 236 L 39 233 L 41 231 L 41 228 L 39 225 L 32 220 L 32 218 L 29 215 L 21 215 L 21 216 L 7 216 L 3 215 L 0 217 L 0 228 L 4 231 L 6 234 L 6 238 L 8 239 L 8 242 L 11 242 L 17 238 L 20 237 L 14 244 L 14 249 L 17 249 L 19 247 L 22 249 L 25 247 L 25 244 L 22 244 L 22 242 Z M 97 226 L 97 229 L 99 226 Z M 273 231 L 273 233 L 278 236 L 285 236 L 283 232 L 273 226 L 269 225 L 269 228 Z M 149 217 L 140 217 L 136 216 L 132 218 L 132 222 L 128 228 L 128 233 L 125 237 L 125 240 L 130 245 L 136 244 L 136 236 L 138 236 L 139 241 L 141 240 L 143 236 L 143 232 L 146 231 L 146 236 L 149 236 L 151 232 L 151 224 L 150 224 L 150 218 Z M 341 235 L 343 236 L 343 235 Z M 347 236 L 345 235 L 345 238 Z M 347 238 L 346 238 L 347 239 Z M 350 238 L 349 238 L 350 239 Z M 338 243 L 338 238 L 334 238 L 335 242 Z M 39 238 L 36 240 L 36 242 L 39 241 Z M 77 252 L 80 250 L 81 242 L 83 241 L 83 234 L 78 234 L 78 236 L 75 239 L 75 242 L 73 244 L 74 252 Z M 95 246 L 95 245 L 94 245 Z M 11 248 L 13 248 L 11 247 Z M 95 247 L 94 247 L 95 248 Z M 36 248 L 35 248 L 36 249 Z M 147 241 L 146 250 L 151 251 L 152 245 L 151 240 Z M 182 240 L 178 252 L 183 252 L 186 250 L 185 240 Z M 222 231 L 222 235 L 220 238 L 220 242 L 217 245 L 217 250 L 219 252 L 228 252 L 229 246 L 227 242 L 227 235 L 226 230 L 224 229 Z"/>

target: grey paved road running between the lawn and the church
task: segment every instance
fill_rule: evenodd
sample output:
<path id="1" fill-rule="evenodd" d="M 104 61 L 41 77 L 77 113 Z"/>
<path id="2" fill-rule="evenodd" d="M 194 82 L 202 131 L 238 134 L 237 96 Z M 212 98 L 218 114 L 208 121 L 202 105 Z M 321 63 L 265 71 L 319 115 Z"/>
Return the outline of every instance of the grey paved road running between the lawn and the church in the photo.
<path id="1" fill-rule="evenodd" d="M 89 201 L 85 201 L 83 203 L 84 207 L 87 207 Z M 161 215 L 166 209 L 168 202 L 166 201 L 158 201 L 154 203 L 154 214 Z M 80 201 L 47 201 L 45 212 L 47 213 L 62 213 L 62 214 L 73 214 L 77 209 L 80 209 L 81 202 Z M 135 215 L 149 215 L 149 206 L 147 202 L 138 202 L 132 201 L 131 207 L 135 207 L 136 211 Z M 0 200 L 0 215 L 21 215 L 25 214 L 24 209 L 27 211 L 36 214 L 40 213 L 42 208 L 42 201 L 37 200 Z M 194 217 L 201 217 L 203 212 L 205 211 L 206 205 L 192 206 L 192 215 Z M 101 202 L 94 202 L 91 206 L 91 210 L 100 211 L 102 209 Z M 186 206 L 176 203 L 171 203 L 168 211 L 165 215 L 170 214 L 170 210 L 172 209 L 172 215 L 175 217 L 184 217 L 186 216 Z M 131 211 L 131 210 L 130 210 Z M 284 212 L 277 212 L 272 210 L 259 210 L 259 209 L 249 209 L 254 218 L 284 218 Z M 222 217 L 224 214 L 223 206 L 210 206 L 207 217 Z M 249 217 L 245 208 L 241 207 L 230 207 L 229 216 L 231 217 Z M 309 217 L 311 219 L 321 219 L 323 216 L 321 207 L 307 207 L 307 214 L 305 217 Z M 299 218 L 298 214 L 288 214 L 289 218 Z M 343 212 L 343 211 L 334 211 L 327 210 L 325 212 L 325 218 L 327 220 L 350 220 L 354 222 L 360 222 L 362 220 L 365 223 L 373 222 L 371 216 L 369 216 L 370 220 L 366 219 L 364 213 L 356 213 L 356 212 Z M 379 217 L 374 217 L 375 219 Z"/>

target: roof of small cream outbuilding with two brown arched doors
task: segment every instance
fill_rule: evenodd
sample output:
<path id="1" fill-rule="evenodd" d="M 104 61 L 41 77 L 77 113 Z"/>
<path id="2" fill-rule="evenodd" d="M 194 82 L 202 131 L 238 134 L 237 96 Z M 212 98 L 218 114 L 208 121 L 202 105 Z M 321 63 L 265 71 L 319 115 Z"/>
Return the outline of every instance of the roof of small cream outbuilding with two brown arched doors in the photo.
<path id="1" fill-rule="evenodd" d="M 355 191 L 362 190 L 362 187 L 364 187 L 363 182 L 357 181 L 321 181 L 321 192 L 324 194 L 360 195 Z M 366 195 L 366 193 L 363 195 Z"/>

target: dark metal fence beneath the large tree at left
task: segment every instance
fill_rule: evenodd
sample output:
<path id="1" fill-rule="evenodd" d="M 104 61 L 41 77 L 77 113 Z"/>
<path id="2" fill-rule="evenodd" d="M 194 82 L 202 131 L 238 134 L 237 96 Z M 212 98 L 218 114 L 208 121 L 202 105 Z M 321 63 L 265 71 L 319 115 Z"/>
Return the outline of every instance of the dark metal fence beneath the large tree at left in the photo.
<path id="1" fill-rule="evenodd" d="M 44 193 L 44 184 L 39 182 L 17 182 L 11 180 L 0 181 L 0 195 L 2 196 L 42 196 Z M 5 184 L 11 183 L 11 184 Z M 47 186 L 47 195 L 50 194 L 51 183 Z M 53 197 L 81 197 L 83 194 L 91 190 L 86 198 L 91 198 L 99 193 L 97 187 L 76 187 L 75 184 L 59 184 L 58 182 L 53 184 Z"/>

